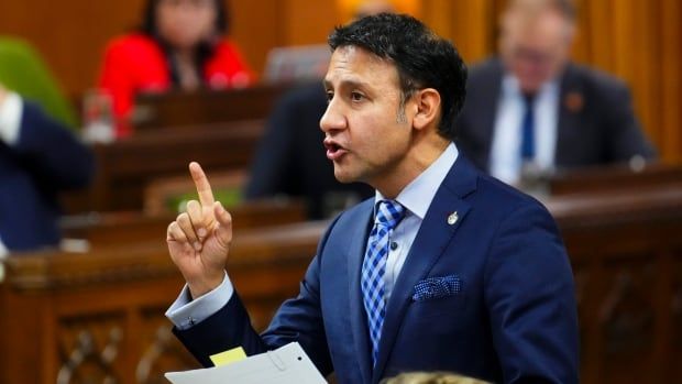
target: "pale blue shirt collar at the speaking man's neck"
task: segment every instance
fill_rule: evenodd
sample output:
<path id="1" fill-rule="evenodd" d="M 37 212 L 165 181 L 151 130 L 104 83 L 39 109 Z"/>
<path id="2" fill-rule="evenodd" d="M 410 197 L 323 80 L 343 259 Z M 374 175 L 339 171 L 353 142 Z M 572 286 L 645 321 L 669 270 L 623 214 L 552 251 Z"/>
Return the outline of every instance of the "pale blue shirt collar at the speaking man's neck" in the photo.
<path id="1" fill-rule="evenodd" d="M 454 143 L 450 143 L 446 151 L 429 165 L 417 178 L 411 180 L 396 197 L 403 207 L 424 220 L 426 212 L 436 196 L 436 191 L 446 179 L 448 172 L 459 156 L 459 151 Z M 384 200 L 384 196 L 377 190 L 374 202 Z"/>

